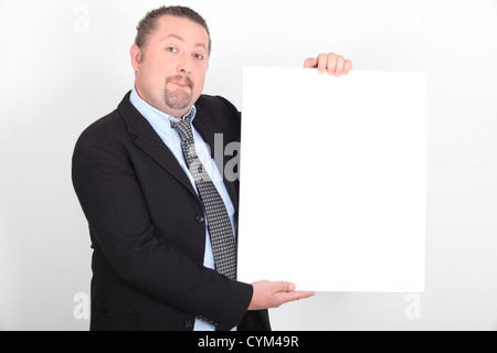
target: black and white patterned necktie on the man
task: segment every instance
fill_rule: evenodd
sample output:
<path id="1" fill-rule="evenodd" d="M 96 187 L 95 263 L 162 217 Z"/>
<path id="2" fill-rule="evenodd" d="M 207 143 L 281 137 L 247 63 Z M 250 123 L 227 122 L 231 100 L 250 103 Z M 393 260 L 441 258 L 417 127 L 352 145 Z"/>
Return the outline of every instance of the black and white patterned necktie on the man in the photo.
<path id="1" fill-rule="evenodd" d="M 236 247 L 230 217 L 221 195 L 197 156 L 190 116 L 171 122 L 180 138 L 188 169 L 199 190 L 205 210 L 212 250 L 218 272 L 236 279 Z"/>

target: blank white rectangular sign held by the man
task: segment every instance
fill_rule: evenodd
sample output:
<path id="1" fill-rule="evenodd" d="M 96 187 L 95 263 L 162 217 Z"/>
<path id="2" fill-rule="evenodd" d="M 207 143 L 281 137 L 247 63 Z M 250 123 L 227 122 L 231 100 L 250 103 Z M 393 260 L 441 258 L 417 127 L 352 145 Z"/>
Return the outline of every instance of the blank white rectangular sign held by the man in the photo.
<path id="1" fill-rule="evenodd" d="M 426 76 L 245 67 L 239 279 L 424 291 Z"/>

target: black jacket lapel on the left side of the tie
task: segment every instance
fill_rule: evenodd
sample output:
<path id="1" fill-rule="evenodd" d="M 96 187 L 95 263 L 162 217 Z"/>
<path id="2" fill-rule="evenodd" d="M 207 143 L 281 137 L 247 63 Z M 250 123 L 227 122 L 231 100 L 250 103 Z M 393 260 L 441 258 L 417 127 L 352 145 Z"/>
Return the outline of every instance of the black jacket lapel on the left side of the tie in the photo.
<path id="1" fill-rule="evenodd" d="M 118 110 L 125 121 L 128 132 L 136 136 L 135 145 L 146 152 L 151 159 L 159 163 L 166 171 L 172 174 L 198 199 L 197 192 L 190 179 L 176 160 L 176 157 L 163 143 L 150 124 L 129 101 L 128 93 L 118 106 Z"/>

